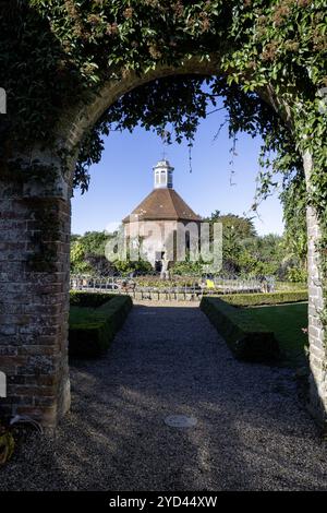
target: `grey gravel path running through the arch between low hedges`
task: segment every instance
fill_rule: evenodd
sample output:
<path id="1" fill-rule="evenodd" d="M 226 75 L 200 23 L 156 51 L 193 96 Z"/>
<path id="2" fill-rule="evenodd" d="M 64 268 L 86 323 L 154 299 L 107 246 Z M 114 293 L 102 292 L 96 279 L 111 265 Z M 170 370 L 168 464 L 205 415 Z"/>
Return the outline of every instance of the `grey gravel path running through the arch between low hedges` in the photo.
<path id="1" fill-rule="evenodd" d="M 137 305 L 108 355 L 74 362 L 56 439 L 0 490 L 327 490 L 326 444 L 288 369 L 241 363 L 194 305 Z M 170 428 L 185 414 L 196 427 Z"/>

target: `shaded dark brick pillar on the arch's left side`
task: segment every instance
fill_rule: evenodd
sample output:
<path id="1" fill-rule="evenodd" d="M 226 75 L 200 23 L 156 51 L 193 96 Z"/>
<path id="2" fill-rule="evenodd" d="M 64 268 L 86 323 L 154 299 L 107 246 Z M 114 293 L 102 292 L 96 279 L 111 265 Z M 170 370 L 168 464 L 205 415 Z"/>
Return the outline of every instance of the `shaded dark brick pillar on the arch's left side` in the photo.
<path id="1" fill-rule="evenodd" d="M 43 191 L 11 177 L 0 172 L 0 417 L 53 428 L 70 404 L 70 200 L 66 187 Z"/>

